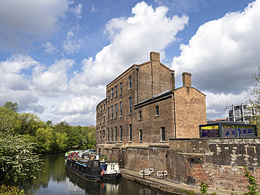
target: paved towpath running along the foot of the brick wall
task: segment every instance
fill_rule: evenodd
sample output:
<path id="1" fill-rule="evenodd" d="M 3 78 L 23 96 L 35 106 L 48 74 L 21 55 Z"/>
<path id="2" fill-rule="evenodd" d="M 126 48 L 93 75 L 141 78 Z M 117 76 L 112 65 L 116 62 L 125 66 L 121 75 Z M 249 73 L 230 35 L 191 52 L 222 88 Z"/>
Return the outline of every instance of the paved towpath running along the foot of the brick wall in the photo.
<path id="1" fill-rule="evenodd" d="M 184 191 L 194 191 L 196 194 L 200 194 L 200 187 L 189 186 L 187 184 L 181 184 L 174 182 L 173 180 L 162 180 L 162 178 L 154 176 L 146 176 L 143 180 L 143 175 L 139 175 L 139 172 L 134 170 L 128 170 L 126 168 L 120 168 L 122 177 L 126 177 L 129 180 L 134 180 L 134 182 L 145 184 L 147 186 L 160 189 L 162 191 L 171 192 L 173 194 L 185 194 Z M 209 188 L 207 191 L 209 194 L 216 192 L 218 195 L 230 195 L 233 191 L 231 190 L 221 190 Z M 237 194 L 242 194 L 241 191 L 234 191 Z"/>

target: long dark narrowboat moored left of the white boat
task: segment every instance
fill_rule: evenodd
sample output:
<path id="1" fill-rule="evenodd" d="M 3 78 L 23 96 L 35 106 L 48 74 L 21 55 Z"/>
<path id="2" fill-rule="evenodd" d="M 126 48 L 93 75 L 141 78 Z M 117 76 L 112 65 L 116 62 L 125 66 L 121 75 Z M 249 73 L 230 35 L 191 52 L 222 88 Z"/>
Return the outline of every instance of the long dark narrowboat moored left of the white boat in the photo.
<path id="1" fill-rule="evenodd" d="M 72 171 L 75 175 L 82 177 L 84 180 L 98 182 L 102 180 L 100 173 L 100 161 L 98 160 L 75 160 L 67 159 L 65 165 L 67 170 Z"/>

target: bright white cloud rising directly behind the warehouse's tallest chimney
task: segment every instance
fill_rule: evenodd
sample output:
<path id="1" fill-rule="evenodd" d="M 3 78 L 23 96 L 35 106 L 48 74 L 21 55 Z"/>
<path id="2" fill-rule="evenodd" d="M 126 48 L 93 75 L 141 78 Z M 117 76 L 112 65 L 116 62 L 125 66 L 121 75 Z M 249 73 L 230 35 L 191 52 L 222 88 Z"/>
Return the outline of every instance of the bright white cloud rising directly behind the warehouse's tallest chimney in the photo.
<path id="1" fill-rule="evenodd" d="M 148 61 L 150 51 L 163 51 L 188 24 L 188 17 L 169 18 L 167 11 L 166 7 L 153 9 L 142 1 L 132 9 L 132 17 L 110 20 L 105 29 L 110 45 L 95 60 L 82 60 L 83 72 L 75 76 L 73 85 L 81 85 L 79 81 L 90 86 L 105 85 L 134 63 Z"/>

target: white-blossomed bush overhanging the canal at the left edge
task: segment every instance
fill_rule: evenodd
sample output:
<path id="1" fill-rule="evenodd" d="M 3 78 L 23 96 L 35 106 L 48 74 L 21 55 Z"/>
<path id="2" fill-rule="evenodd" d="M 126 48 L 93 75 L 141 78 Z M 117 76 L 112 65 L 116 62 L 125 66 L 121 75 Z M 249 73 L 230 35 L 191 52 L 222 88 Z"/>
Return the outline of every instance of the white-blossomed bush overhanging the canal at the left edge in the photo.
<path id="1" fill-rule="evenodd" d="M 34 144 L 22 135 L 0 134 L 0 180 L 16 182 L 18 179 L 34 177 L 40 170 L 39 155 L 34 154 Z"/>

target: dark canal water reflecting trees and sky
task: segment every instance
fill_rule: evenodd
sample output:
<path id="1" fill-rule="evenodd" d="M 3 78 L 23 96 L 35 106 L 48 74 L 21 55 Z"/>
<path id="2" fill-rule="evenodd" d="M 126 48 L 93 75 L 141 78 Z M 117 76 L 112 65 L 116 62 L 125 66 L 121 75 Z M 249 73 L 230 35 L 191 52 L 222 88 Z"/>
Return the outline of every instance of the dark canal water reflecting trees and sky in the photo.
<path id="1" fill-rule="evenodd" d="M 42 155 L 41 158 L 44 171 L 35 174 L 37 179 L 24 180 L 19 184 L 25 194 L 164 194 L 124 178 L 96 184 L 86 182 L 65 170 L 64 154 Z"/>

